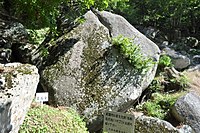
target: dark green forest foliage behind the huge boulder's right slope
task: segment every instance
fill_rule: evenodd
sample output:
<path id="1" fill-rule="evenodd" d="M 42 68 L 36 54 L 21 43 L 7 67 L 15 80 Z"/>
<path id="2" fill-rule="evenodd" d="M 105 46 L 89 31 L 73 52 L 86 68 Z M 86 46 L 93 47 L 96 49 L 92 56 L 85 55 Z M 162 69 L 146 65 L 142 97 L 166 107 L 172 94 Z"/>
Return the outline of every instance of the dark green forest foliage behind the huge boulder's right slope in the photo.
<path id="1" fill-rule="evenodd" d="M 133 25 L 154 26 L 169 33 L 173 39 L 176 30 L 182 35 L 200 35 L 199 0 L 129 0 L 115 10 Z M 171 38 L 170 38 L 171 37 Z"/>

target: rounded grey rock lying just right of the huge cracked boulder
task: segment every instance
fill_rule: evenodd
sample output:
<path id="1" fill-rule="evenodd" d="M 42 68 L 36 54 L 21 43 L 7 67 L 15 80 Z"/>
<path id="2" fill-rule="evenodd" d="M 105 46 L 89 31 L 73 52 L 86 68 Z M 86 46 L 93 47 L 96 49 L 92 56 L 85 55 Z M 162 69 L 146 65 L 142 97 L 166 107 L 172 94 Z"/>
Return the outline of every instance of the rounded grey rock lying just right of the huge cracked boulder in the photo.
<path id="1" fill-rule="evenodd" d="M 190 59 L 187 56 L 182 55 L 170 48 L 164 48 L 163 51 L 166 55 L 171 57 L 174 68 L 184 69 L 190 65 Z"/>

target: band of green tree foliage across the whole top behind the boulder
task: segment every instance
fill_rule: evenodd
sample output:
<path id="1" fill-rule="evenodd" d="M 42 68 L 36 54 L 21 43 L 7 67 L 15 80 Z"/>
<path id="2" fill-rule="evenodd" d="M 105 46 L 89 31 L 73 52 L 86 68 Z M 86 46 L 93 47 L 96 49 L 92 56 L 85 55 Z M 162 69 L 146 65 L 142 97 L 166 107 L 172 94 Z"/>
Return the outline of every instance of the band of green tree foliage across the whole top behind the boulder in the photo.
<path id="1" fill-rule="evenodd" d="M 199 0 L 1 0 L 10 12 L 29 28 L 55 27 L 61 4 L 83 15 L 90 7 L 124 16 L 133 25 L 159 27 L 172 34 L 200 35 Z M 76 7 L 76 8 L 72 8 Z M 170 36 L 169 34 L 169 36 Z M 173 39 L 173 38 L 172 38 Z"/>

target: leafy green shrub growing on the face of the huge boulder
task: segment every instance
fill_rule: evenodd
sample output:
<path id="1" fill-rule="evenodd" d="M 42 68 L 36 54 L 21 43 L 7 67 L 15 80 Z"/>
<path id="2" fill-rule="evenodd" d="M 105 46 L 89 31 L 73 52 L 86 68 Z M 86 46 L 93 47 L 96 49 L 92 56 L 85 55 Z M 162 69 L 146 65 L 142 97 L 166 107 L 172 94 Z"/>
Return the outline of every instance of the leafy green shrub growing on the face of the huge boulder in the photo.
<path id="1" fill-rule="evenodd" d="M 121 53 L 141 73 L 145 73 L 155 64 L 150 57 L 145 57 L 140 50 L 139 45 L 134 44 L 133 39 L 118 36 L 113 38 L 112 43 L 120 48 Z"/>

